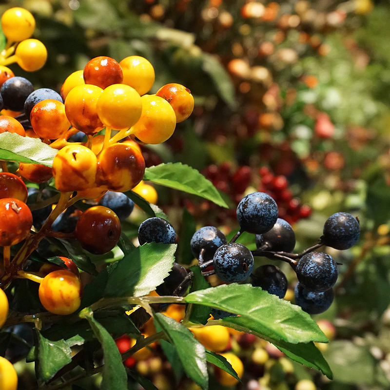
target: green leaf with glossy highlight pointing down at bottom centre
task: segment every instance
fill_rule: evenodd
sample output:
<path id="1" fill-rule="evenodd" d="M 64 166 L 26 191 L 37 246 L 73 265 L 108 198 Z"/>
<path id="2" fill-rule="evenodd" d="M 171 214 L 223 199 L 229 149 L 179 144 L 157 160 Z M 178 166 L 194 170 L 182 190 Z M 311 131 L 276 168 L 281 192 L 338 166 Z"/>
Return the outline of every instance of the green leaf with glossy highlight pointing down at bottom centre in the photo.
<path id="1" fill-rule="evenodd" d="M 164 314 L 156 313 L 155 323 L 161 328 L 168 341 L 176 347 L 184 371 L 202 389 L 208 389 L 209 375 L 206 364 L 206 351 L 191 331 Z"/>

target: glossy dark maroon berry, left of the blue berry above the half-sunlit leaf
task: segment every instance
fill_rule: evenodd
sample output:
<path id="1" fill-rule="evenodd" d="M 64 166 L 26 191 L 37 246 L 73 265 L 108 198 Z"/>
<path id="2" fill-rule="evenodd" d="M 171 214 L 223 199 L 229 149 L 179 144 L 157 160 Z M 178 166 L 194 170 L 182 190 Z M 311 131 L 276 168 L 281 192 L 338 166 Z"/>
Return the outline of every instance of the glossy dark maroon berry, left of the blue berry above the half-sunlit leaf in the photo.
<path id="1" fill-rule="evenodd" d="M 88 252 L 105 254 L 117 245 L 120 232 L 119 218 L 112 210 L 93 206 L 78 218 L 75 235 Z"/>

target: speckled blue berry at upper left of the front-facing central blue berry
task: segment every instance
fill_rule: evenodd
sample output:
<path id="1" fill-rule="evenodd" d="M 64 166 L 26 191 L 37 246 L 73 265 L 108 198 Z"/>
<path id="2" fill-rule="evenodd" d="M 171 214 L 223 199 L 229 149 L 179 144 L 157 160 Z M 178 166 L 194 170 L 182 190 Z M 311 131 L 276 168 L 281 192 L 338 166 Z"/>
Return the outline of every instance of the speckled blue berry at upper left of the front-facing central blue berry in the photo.
<path id="1" fill-rule="evenodd" d="M 201 249 L 204 249 L 203 260 L 208 261 L 214 257 L 215 251 L 227 244 L 225 234 L 214 226 L 204 226 L 195 232 L 191 238 L 191 250 L 198 259 Z"/>

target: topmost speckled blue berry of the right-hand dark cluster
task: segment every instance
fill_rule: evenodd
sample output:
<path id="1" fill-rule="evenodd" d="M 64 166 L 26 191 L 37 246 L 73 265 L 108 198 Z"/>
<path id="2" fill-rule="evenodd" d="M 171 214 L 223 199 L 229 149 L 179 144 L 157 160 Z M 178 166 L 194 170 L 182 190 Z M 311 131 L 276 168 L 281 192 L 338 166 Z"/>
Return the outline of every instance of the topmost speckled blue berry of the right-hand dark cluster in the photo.
<path id="1" fill-rule="evenodd" d="M 263 234 L 273 228 L 278 216 L 278 208 L 273 198 L 263 192 L 244 196 L 237 206 L 237 220 L 248 233 Z"/>

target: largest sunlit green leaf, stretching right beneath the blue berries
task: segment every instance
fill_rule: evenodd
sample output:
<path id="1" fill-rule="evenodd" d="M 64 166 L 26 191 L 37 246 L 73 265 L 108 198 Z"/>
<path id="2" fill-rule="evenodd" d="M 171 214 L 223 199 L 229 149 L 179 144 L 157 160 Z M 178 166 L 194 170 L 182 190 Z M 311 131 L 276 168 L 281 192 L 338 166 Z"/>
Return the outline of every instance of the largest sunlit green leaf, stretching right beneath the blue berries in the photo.
<path id="1" fill-rule="evenodd" d="M 264 335 L 275 340 L 293 344 L 328 342 L 308 313 L 259 287 L 232 283 L 191 292 L 184 300 L 247 317 L 262 327 Z"/>

